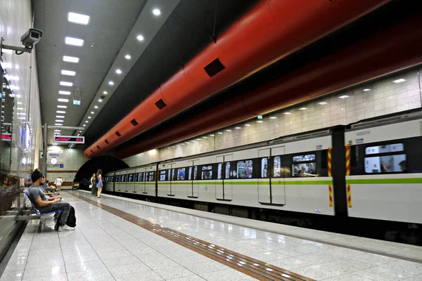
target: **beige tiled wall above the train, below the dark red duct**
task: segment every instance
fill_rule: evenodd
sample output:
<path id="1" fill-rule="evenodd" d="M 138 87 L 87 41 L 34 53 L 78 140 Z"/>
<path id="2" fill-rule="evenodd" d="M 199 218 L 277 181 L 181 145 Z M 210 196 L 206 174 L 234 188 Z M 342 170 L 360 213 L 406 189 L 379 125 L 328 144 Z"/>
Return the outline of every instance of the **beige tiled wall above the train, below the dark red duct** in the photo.
<path id="1" fill-rule="evenodd" d="M 397 79 L 406 81 L 395 83 Z M 414 68 L 124 161 L 138 166 L 411 110 L 421 107 L 421 84 L 418 69 Z"/>

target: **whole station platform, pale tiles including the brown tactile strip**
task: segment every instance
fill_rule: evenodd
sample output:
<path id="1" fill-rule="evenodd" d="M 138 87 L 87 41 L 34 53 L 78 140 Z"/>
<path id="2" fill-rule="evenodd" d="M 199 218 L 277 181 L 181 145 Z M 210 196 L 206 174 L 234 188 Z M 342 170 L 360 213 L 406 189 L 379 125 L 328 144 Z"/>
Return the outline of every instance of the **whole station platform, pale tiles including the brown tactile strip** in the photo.
<path id="1" fill-rule="evenodd" d="M 422 280 L 422 247 L 80 190 L 63 197 L 75 230 L 30 221 L 0 281 Z"/>

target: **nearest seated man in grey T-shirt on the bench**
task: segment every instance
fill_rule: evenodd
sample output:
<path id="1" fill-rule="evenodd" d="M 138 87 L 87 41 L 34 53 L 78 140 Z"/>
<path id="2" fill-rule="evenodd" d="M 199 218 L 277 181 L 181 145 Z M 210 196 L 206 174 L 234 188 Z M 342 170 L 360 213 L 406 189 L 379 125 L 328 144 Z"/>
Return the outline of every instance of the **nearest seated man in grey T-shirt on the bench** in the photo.
<path id="1" fill-rule="evenodd" d="M 44 191 L 39 187 L 43 181 L 43 174 L 41 171 L 34 171 L 31 175 L 32 185 L 28 188 L 28 193 L 32 199 L 35 207 L 41 214 L 50 211 L 63 210 L 60 219 L 57 220 L 54 230 L 58 231 L 59 227 L 64 228 L 69 216 L 70 204 L 68 202 L 60 202 L 61 197 L 46 197 Z"/>

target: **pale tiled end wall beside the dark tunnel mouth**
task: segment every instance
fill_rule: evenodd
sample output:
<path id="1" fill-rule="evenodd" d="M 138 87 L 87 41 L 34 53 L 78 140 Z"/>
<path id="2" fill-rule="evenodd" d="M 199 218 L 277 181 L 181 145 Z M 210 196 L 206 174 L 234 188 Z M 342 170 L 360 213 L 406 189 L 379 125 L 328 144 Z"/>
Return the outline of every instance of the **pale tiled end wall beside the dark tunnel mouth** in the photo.
<path id="1" fill-rule="evenodd" d="M 64 182 L 72 183 L 79 168 L 89 160 L 89 158 L 85 157 L 84 150 L 82 150 L 82 148 L 75 149 L 51 145 L 47 148 L 47 150 L 48 152 L 60 152 L 61 157 L 58 159 L 58 163 L 63 164 L 63 168 L 48 167 L 47 179 L 51 182 L 56 181 L 56 178 L 61 176 Z"/>

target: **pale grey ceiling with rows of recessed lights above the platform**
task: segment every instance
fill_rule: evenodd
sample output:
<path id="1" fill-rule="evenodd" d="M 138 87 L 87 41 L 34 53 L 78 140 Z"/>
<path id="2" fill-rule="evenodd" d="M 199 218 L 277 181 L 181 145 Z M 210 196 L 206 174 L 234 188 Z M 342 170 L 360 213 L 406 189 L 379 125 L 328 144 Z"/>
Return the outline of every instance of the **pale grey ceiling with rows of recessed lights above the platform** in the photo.
<path id="1" fill-rule="evenodd" d="M 93 102 L 98 104 L 97 95 L 104 91 L 103 84 L 108 82 L 110 75 L 114 75 L 116 87 L 178 3 L 179 0 L 34 1 L 34 27 L 44 32 L 36 46 L 42 122 L 55 124 L 56 115 L 63 115 L 56 113 L 56 110 L 63 110 L 57 105 L 66 105 L 63 126 L 82 126 L 88 120 L 84 117 L 90 115 Z M 158 17 L 150 11 L 155 6 L 162 7 Z M 89 15 L 89 25 L 68 22 L 68 12 Z M 144 41 L 132 38 L 138 32 L 144 34 Z M 65 45 L 67 36 L 84 39 L 84 46 Z M 91 47 L 91 44 L 95 46 Z M 122 53 L 127 52 L 133 53 L 132 60 L 124 59 Z M 65 63 L 63 55 L 78 57 L 79 63 Z M 122 70 L 117 77 L 115 67 Z M 60 70 L 72 70 L 76 75 L 64 76 Z M 60 90 L 73 91 L 73 88 L 60 86 L 60 81 L 70 81 L 74 87 L 82 89 L 81 105 L 72 105 L 72 96 L 58 94 Z M 111 95 L 113 88 L 106 91 Z M 67 98 L 69 102 L 59 103 L 58 98 Z M 96 113 L 99 110 L 101 107 Z M 74 133 L 77 132 L 62 131 L 62 135 Z M 49 145 L 53 143 L 52 136 L 53 129 L 50 129 Z"/>

